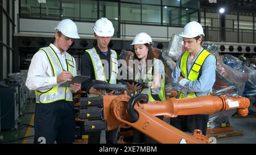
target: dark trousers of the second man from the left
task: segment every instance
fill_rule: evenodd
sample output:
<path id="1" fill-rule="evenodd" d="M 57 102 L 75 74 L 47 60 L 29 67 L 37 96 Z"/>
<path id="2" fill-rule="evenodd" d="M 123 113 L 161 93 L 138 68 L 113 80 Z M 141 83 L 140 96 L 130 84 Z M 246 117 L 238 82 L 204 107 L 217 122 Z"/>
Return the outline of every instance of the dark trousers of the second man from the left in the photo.
<path id="1" fill-rule="evenodd" d="M 101 131 L 89 132 L 88 144 L 100 144 Z M 106 144 L 117 144 L 118 128 L 106 131 Z"/>

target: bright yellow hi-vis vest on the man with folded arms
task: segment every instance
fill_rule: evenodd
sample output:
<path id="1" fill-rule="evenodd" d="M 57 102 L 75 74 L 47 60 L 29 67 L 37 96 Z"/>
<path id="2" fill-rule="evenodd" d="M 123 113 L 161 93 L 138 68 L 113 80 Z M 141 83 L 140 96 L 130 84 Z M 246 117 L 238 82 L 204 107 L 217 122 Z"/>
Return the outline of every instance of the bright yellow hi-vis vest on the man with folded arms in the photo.
<path id="1" fill-rule="evenodd" d="M 200 53 L 200 55 L 196 58 L 196 61 L 193 63 L 192 68 L 191 68 L 190 72 L 188 73 L 188 71 L 187 71 L 187 62 L 188 62 L 189 52 L 185 51 L 183 53 L 183 55 L 181 56 L 181 58 L 180 58 L 181 75 L 184 78 L 187 78 L 190 81 L 196 81 L 199 78 L 201 67 L 203 66 L 205 59 L 209 55 L 211 55 L 211 53 L 204 49 Z M 185 98 L 185 95 L 182 94 L 179 91 L 179 96 L 178 97 L 179 98 Z M 195 92 L 188 93 L 187 98 L 191 98 L 191 97 L 197 97 L 196 93 Z"/>

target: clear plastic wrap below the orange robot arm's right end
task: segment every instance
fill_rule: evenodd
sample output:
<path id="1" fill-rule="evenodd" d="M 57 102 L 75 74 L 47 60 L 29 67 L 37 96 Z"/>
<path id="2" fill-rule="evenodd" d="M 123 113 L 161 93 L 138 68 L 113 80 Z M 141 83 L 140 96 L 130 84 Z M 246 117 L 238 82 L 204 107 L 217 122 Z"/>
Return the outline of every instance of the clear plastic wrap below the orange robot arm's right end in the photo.
<path id="1" fill-rule="evenodd" d="M 212 115 L 209 115 L 208 128 L 222 128 L 229 127 L 229 116 L 232 116 L 236 113 L 236 109 L 234 110 L 226 110 L 226 111 L 218 111 Z"/>

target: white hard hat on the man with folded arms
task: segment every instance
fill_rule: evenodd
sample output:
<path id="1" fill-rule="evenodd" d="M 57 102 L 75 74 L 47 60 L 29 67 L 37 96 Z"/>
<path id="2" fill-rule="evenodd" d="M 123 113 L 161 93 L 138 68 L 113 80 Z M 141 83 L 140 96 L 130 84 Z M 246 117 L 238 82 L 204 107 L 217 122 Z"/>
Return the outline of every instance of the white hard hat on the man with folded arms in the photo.
<path id="1" fill-rule="evenodd" d="M 204 30 L 201 24 L 195 21 L 187 23 L 183 32 L 179 33 L 179 36 L 188 38 L 197 37 L 199 35 L 204 35 Z"/>

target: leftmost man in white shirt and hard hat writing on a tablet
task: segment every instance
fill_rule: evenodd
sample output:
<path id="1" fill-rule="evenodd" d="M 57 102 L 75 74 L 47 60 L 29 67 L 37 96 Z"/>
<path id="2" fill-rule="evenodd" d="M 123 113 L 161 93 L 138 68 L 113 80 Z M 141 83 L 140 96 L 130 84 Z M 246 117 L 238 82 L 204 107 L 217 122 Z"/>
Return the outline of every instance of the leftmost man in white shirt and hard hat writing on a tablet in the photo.
<path id="1" fill-rule="evenodd" d="M 26 86 L 36 94 L 34 143 L 73 143 L 75 135 L 72 91 L 80 90 L 81 83 L 60 84 L 77 74 L 75 58 L 67 50 L 80 37 L 70 19 L 61 20 L 55 30 L 54 43 L 35 53 L 27 74 Z"/>

